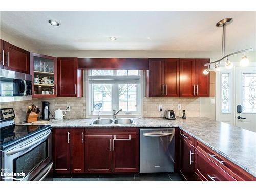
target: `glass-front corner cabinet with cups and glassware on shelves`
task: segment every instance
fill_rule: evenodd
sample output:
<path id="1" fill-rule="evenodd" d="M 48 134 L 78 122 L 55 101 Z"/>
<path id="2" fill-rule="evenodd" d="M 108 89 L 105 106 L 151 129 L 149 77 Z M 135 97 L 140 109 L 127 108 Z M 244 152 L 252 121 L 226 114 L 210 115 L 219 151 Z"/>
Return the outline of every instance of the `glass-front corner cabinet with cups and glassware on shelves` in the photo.
<path id="1" fill-rule="evenodd" d="M 30 54 L 30 73 L 33 77 L 33 97 L 57 97 L 57 58 Z"/>

